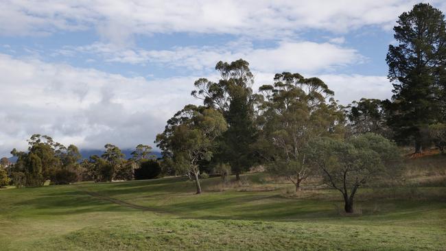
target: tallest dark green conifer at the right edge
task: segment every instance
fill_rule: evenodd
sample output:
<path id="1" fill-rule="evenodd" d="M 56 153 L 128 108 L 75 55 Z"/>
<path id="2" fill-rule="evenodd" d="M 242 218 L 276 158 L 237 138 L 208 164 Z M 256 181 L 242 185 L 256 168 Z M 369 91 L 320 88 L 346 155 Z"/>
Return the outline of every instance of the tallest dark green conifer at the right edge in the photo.
<path id="1" fill-rule="evenodd" d="M 386 62 L 393 82 L 388 124 L 400 143 L 423 148 L 421 128 L 444 119 L 446 22 L 428 3 L 414 5 L 399 16 L 394 27 L 399 45 L 389 45 Z"/>

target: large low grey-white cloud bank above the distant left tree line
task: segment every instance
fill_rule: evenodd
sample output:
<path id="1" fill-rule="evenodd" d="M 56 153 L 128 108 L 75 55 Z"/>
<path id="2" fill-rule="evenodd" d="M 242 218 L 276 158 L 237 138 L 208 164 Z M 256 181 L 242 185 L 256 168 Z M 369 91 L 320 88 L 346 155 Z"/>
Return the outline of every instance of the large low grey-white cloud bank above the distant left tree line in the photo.
<path id="1" fill-rule="evenodd" d="M 185 104 L 196 77 L 147 81 L 0 54 L 0 156 L 22 150 L 31 134 L 102 148 L 152 144 Z"/>

